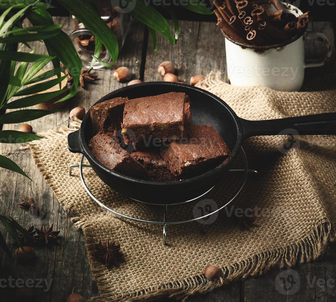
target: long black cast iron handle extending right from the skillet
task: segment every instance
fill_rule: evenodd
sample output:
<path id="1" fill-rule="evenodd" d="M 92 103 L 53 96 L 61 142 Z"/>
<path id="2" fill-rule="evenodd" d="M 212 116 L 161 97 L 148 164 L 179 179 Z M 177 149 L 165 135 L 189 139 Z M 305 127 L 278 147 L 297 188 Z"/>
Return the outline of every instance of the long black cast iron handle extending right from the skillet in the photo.
<path id="1" fill-rule="evenodd" d="M 336 112 L 269 120 L 240 120 L 243 139 L 259 135 L 336 135 Z"/>

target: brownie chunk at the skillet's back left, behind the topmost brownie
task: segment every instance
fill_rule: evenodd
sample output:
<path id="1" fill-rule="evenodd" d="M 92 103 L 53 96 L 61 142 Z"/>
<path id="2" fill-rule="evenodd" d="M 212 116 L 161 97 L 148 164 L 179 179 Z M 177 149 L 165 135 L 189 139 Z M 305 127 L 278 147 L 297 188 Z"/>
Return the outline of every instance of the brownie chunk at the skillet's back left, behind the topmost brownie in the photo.
<path id="1" fill-rule="evenodd" d="M 98 132 L 116 133 L 121 129 L 125 102 L 128 98 L 114 98 L 90 108 L 93 135 Z"/>

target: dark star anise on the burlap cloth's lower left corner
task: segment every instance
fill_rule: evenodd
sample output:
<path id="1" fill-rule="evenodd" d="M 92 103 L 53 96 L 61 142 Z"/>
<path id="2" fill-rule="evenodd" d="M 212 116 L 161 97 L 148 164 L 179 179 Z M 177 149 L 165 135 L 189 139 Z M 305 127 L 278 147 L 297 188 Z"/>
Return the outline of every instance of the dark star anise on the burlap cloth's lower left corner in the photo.
<path id="1" fill-rule="evenodd" d="M 107 267 L 117 264 L 118 259 L 123 256 L 120 252 L 120 244 L 116 245 L 115 242 L 110 243 L 109 239 L 106 243 L 100 241 L 96 244 L 96 250 L 93 252 L 93 255 Z"/>

